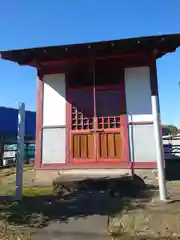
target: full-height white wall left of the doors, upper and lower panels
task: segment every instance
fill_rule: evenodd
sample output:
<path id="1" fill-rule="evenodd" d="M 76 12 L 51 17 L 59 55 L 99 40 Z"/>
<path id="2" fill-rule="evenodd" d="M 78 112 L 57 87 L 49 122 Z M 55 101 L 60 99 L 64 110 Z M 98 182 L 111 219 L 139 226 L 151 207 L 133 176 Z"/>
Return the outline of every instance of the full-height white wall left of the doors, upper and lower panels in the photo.
<path id="1" fill-rule="evenodd" d="M 42 163 L 65 163 L 65 74 L 45 75 L 43 81 Z"/>

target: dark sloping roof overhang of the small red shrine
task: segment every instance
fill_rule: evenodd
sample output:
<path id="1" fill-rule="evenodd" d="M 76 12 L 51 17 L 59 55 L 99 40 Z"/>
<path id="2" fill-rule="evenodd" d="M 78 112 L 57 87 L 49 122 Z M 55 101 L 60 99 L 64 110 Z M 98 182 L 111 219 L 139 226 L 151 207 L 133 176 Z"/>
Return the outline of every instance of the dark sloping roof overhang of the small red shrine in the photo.
<path id="1" fill-rule="evenodd" d="M 70 60 L 72 58 L 85 58 L 89 56 L 106 56 L 109 54 L 127 54 L 137 52 L 157 51 L 157 58 L 167 52 L 175 51 L 180 46 L 180 34 L 148 36 L 109 40 L 102 42 L 89 42 L 61 46 L 47 46 L 21 50 L 0 51 L 1 58 L 19 64 L 31 62 Z"/>

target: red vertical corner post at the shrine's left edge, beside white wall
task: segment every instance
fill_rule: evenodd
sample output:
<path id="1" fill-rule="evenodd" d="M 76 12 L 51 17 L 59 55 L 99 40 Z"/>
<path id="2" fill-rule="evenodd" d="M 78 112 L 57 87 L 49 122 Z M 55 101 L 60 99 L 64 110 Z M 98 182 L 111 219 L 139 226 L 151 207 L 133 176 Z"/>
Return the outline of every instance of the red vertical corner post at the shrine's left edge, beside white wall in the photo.
<path id="1" fill-rule="evenodd" d="M 36 110 L 36 150 L 35 167 L 41 167 L 41 145 L 42 145 L 42 103 L 43 103 L 43 82 L 42 75 L 38 72 L 37 78 L 37 110 Z"/>

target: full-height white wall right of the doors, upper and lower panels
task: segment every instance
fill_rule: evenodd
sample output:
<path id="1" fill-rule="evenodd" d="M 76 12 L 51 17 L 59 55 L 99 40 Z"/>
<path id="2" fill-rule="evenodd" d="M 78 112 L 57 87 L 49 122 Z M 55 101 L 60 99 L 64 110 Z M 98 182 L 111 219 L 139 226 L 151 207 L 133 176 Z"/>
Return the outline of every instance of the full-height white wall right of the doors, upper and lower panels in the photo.
<path id="1" fill-rule="evenodd" d="M 125 91 L 129 122 L 153 122 L 148 66 L 125 69 Z M 132 162 L 155 162 L 153 123 L 129 125 L 129 147 Z"/>

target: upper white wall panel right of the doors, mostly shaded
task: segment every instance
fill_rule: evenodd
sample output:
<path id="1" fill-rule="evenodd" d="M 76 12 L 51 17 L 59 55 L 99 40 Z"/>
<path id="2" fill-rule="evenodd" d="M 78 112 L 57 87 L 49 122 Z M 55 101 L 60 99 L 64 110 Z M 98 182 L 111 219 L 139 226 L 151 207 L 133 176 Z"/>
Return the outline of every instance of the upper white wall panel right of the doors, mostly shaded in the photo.
<path id="1" fill-rule="evenodd" d="M 126 68 L 125 91 L 129 122 L 153 121 L 149 67 Z"/>

